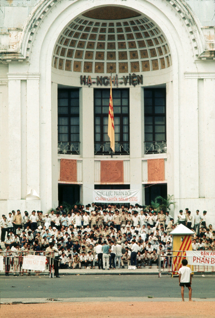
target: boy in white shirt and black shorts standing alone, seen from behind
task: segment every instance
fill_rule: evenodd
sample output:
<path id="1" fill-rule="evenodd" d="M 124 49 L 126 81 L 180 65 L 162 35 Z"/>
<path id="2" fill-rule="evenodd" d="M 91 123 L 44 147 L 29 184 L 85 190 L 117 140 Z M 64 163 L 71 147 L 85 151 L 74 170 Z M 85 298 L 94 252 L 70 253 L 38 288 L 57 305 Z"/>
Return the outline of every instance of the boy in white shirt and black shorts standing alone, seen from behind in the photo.
<path id="1" fill-rule="evenodd" d="M 182 301 L 184 301 L 184 287 L 189 289 L 189 301 L 192 301 L 192 288 L 191 288 L 191 280 L 192 280 L 192 272 L 190 267 L 187 267 L 187 260 L 182 259 L 181 261 L 182 267 L 179 268 L 179 286 L 181 286 L 181 297 Z"/>

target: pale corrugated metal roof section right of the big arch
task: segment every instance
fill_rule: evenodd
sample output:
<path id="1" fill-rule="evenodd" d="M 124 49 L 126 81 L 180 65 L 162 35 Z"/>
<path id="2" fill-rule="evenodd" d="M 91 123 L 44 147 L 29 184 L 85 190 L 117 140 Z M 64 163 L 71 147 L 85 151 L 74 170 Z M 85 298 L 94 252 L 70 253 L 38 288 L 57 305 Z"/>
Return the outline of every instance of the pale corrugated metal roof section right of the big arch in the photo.
<path id="1" fill-rule="evenodd" d="M 185 0 L 203 26 L 215 25 L 215 0 Z"/>

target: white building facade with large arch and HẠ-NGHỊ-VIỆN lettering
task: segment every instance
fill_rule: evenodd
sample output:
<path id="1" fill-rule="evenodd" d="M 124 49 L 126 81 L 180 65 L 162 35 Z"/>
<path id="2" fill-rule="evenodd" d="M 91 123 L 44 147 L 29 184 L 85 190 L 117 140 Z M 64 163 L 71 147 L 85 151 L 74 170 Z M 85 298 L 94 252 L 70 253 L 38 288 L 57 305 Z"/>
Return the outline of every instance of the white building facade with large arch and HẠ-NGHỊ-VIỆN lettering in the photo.
<path id="1" fill-rule="evenodd" d="M 175 216 L 206 210 L 214 227 L 214 2 L 0 4 L 2 213 L 136 189 L 140 204 L 174 195 Z"/>

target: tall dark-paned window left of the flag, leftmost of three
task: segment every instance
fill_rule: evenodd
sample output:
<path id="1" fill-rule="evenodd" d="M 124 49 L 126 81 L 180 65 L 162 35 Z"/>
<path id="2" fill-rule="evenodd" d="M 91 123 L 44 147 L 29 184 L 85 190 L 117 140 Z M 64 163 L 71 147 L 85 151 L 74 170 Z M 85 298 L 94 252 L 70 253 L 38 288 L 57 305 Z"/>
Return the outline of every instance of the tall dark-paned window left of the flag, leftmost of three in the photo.
<path id="1" fill-rule="evenodd" d="M 79 153 L 79 89 L 58 89 L 58 149 Z"/>

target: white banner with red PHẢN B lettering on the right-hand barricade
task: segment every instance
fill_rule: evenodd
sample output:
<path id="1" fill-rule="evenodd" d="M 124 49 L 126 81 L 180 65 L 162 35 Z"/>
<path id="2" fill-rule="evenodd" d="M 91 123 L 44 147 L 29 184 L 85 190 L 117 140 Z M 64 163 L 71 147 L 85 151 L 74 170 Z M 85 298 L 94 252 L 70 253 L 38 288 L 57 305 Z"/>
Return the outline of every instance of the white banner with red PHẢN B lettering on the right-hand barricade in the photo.
<path id="1" fill-rule="evenodd" d="M 189 265 L 215 266 L 214 251 L 186 251 Z"/>

